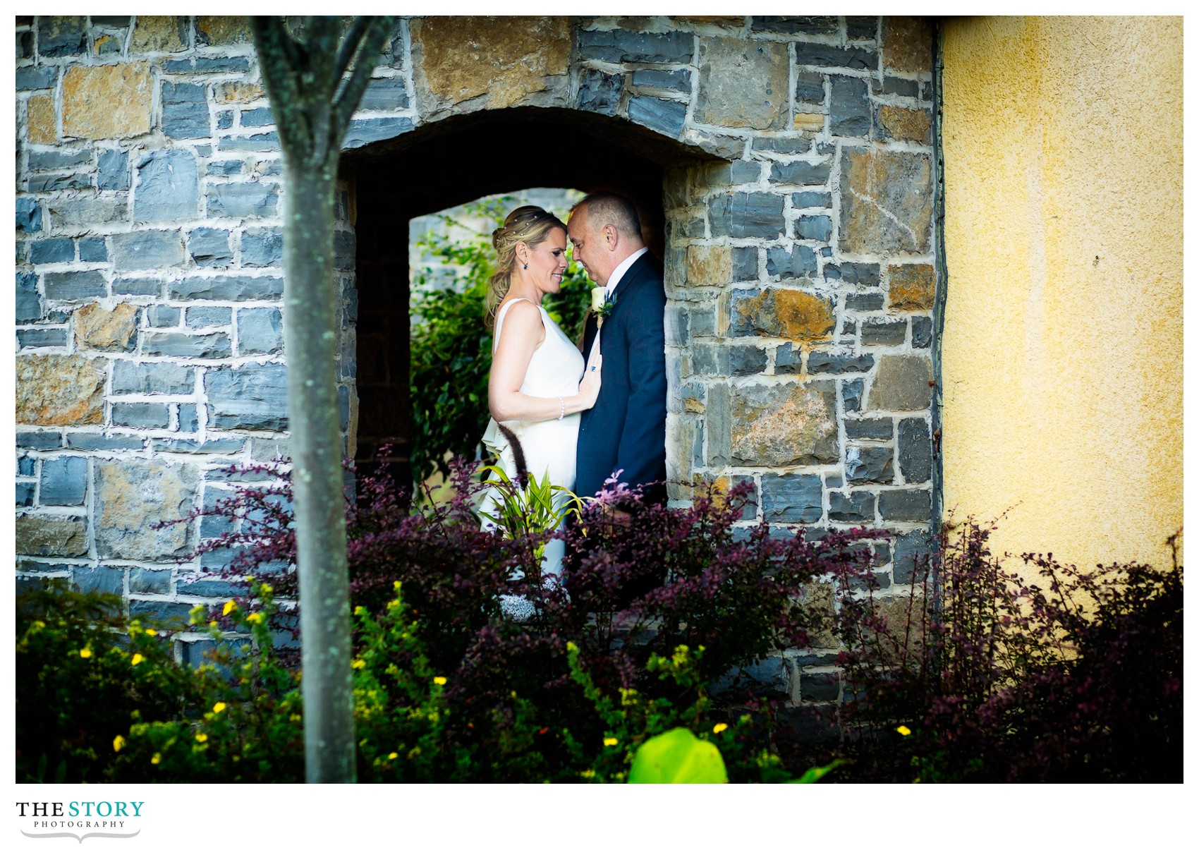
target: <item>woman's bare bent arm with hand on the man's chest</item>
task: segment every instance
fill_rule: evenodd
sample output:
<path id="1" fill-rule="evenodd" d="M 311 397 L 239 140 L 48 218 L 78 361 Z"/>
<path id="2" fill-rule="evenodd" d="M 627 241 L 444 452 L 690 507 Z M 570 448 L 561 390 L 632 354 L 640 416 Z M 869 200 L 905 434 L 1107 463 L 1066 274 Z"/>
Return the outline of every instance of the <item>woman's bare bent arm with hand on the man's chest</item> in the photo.
<path id="1" fill-rule="evenodd" d="M 520 391 L 532 354 L 546 338 L 546 327 L 536 306 L 528 302 L 513 305 L 504 319 L 501 332 L 487 384 L 487 403 L 495 421 L 540 422 L 558 419 L 564 409 L 566 415 L 571 415 L 595 405 L 600 392 L 598 371 L 588 372 L 596 378 L 588 378 L 589 383 L 580 386 L 579 395 L 538 398 Z"/>

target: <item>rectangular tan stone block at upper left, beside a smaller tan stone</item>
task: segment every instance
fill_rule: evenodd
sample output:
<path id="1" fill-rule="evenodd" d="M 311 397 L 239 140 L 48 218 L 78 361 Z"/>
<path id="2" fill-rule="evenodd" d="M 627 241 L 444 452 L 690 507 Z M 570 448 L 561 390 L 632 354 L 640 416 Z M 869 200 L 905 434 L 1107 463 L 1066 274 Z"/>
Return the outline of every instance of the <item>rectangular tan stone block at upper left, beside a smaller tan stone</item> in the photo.
<path id="1" fill-rule="evenodd" d="M 150 130 L 149 62 L 73 66 L 62 78 L 62 133 L 84 139 L 137 137 Z"/>

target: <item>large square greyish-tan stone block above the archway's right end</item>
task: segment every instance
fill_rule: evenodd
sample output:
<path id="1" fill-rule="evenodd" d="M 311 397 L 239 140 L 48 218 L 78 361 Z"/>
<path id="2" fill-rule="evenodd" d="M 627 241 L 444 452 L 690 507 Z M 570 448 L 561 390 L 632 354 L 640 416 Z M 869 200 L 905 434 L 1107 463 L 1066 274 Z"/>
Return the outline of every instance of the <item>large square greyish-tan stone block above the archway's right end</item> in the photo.
<path id="1" fill-rule="evenodd" d="M 790 104 L 790 59 L 781 42 L 711 37 L 699 41 L 695 121 L 782 130 Z"/>

